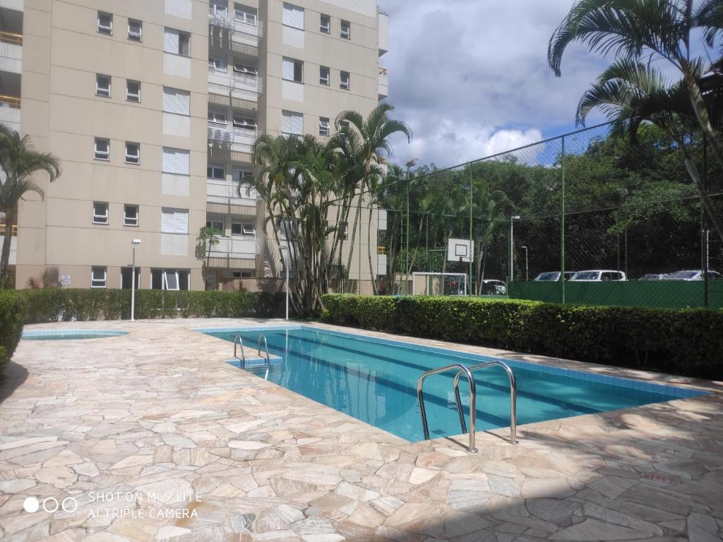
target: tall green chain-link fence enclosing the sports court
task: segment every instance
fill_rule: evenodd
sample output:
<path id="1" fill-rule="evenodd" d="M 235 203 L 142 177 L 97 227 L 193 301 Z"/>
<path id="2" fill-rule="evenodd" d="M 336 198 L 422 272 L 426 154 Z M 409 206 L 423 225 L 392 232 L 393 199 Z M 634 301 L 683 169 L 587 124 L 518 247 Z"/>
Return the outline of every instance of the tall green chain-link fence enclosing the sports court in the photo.
<path id="1" fill-rule="evenodd" d="M 689 146 L 720 214 L 719 168 Z M 453 168 L 390 165 L 335 226 L 349 240 L 333 289 L 723 306 L 723 243 L 678 151 L 600 125 Z"/>

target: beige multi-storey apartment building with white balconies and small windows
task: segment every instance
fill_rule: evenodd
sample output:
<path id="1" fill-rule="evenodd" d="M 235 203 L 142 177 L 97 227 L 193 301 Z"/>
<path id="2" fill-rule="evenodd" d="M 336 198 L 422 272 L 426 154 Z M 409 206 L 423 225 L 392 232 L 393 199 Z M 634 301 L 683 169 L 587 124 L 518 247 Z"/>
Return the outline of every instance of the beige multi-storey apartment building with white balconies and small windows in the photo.
<path id="1" fill-rule="evenodd" d="M 130 288 L 133 239 L 140 288 L 273 288 L 255 139 L 325 139 L 387 92 L 374 0 L 0 0 L 0 30 L 0 121 L 63 168 L 20 202 L 17 288 L 48 268 L 70 288 Z M 359 254 L 383 274 L 372 222 Z M 205 277 L 203 225 L 224 232 Z"/>

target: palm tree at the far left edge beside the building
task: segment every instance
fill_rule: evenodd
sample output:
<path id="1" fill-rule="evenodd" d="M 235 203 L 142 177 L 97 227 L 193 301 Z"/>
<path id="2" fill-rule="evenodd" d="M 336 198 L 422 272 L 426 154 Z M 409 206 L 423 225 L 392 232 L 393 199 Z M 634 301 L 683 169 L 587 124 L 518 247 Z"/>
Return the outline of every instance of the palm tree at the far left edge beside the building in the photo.
<path id="1" fill-rule="evenodd" d="M 10 260 L 12 224 L 17 218 L 17 204 L 26 192 L 35 192 L 45 199 L 45 191 L 35 182 L 33 174 L 48 173 L 48 181 L 60 176 L 59 160 L 47 152 L 33 150 L 30 136 L 20 137 L 16 131 L 0 124 L 0 169 L 4 182 L 0 183 L 0 212 L 5 215 L 5 237 L 0 254 L 0 281 L 7 280 Z"/>

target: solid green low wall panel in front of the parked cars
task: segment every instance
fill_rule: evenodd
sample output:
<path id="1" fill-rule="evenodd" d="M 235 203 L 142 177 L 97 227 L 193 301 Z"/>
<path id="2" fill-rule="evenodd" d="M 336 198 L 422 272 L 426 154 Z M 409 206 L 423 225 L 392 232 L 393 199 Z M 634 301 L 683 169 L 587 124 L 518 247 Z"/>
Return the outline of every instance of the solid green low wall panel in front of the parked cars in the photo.
<path id="1" fill-rule="evenodd" d="M 510 298 L 560 303 L 560 283 L 513 282 Z M 706 306 L 705 283 L 685 280 L 626 280 L 621 282 L 565 283 L 565 303 L 584 305 L 649 306 L 667 309 Z M 708 283 L 710 309 L 723 308 L 723 281 Z"/>

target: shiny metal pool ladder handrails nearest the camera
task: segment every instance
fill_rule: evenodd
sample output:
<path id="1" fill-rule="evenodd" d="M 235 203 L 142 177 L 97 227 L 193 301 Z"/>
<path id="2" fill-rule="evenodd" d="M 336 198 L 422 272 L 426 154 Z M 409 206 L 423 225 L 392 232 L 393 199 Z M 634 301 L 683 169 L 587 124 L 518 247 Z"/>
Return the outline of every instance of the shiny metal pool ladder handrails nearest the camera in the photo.
<path id="1" fill-rule="evenodd" d="M 439 369 L 432 369 L 431 371 L 427 371 L 424 374 L 422 374 L 421 377 L 419 377 L 419 380 L 416 383 L 416 397 L 419 400 L 419 413 L 422 416 L 422 429 L 424 429 L 424 440 L 429 440 L 429 425 L 427 423 L 427 410 L 424 408 L 424 380 L 427 379 L 427 377 L 431 377 L 434 374 L 440 374 L 440 373 L 446 373 L 448 371 L 452 371 L 453 369 L 457 370 L 457 374 L 455 374 L 454 377 L 454 397 L 455 402 L 457 403 L 457 413 L 459 415 L 459 423 L 462 426 L 462 434 L 466 434 L 467 432 L 467 424 L 464 421 L 464 413 L 462 410 L 462 399 L 459 395 L 459 379 L 462 375 L 465 375 L 467 377 L 467 380 L 469 381 L 469 451 L 470 452 L 477 452 L 477 449 L 475 447 L 475 436 L 476 431 L 474 429 L 474 424 L 476 421 L 476 402 L 477 402 L 477 390 L 476 390 L 476 384 L 474 383 L 474 377 L 472 376 L 472 373 L 474 371 L 478 371 L 479 369 L 484 369 L 485 367 L 491 367 L 498 365 L 502 367 L 502 369 L 505 369 L 505 372 L 507 373 L 508 378 L 510 379 L 510 442 L 512 444 L 517 444 L 517 382 L 515 381 L 515 375 L 512 372 L 512 369 L 510 369 L 510 366 L 508 364 L 502 363 L 502 361 L 487 361 L 487 363 L 479 364 L 479 365 L 473 365 L 471 367 L 468 367 L 463 364 L 451 364 L 444 367 L 440 367 Z"/>

